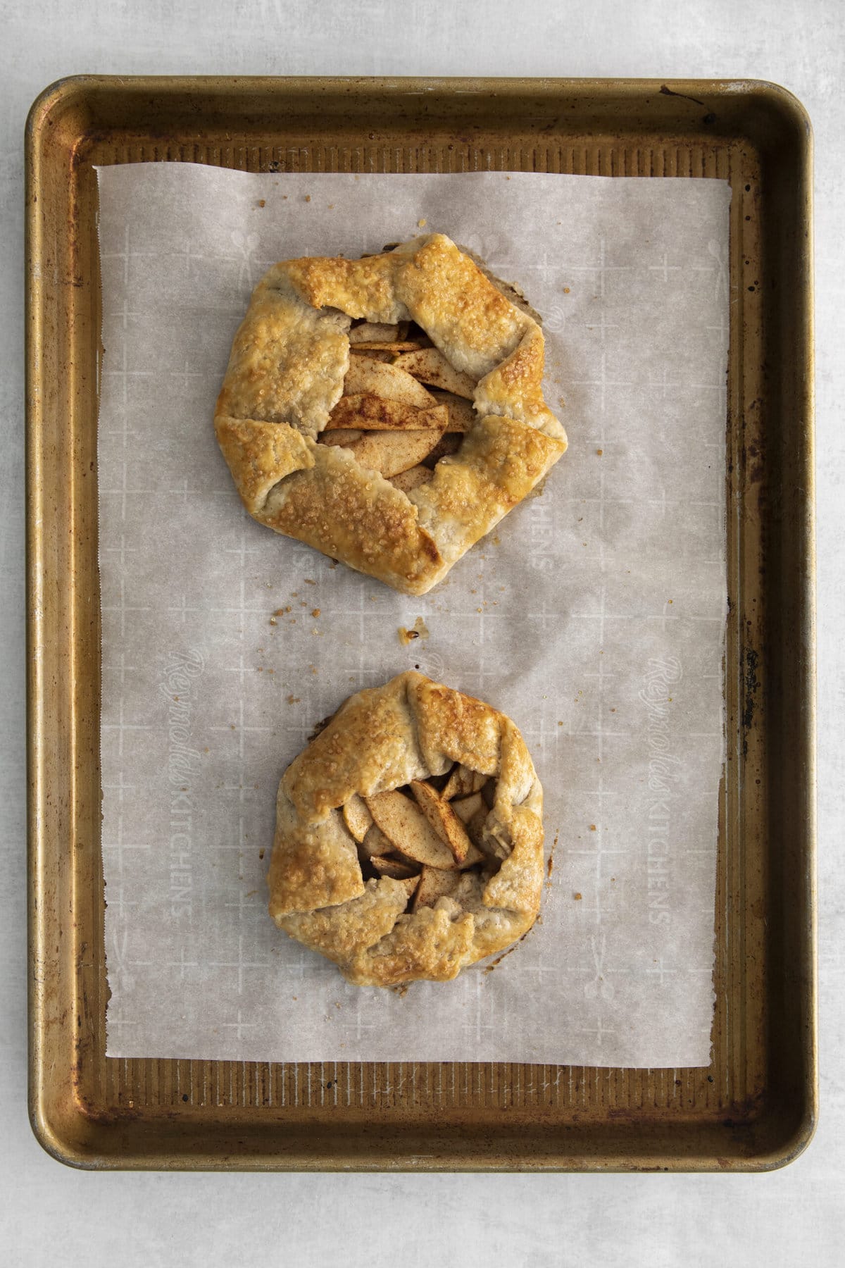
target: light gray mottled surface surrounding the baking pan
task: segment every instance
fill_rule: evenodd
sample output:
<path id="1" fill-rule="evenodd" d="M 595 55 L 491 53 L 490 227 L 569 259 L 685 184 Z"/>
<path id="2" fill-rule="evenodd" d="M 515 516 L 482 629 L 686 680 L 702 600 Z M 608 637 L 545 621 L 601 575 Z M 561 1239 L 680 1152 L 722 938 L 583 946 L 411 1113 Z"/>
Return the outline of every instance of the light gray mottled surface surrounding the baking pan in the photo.
<path id="1" fill-rule="evenodd" d="M 845 1038 L 837 867 L 845 791 L 839 0 L 0 0 L 0 1257 L 10 1264 L 742 1265 L 841 1262 Z M 23 126 L 52 80 L 108 74 L 475 74 L 770 79 L 816 132 L 822 1116 L 772 1175 L 87 1175 L 25 1113 Z"/>

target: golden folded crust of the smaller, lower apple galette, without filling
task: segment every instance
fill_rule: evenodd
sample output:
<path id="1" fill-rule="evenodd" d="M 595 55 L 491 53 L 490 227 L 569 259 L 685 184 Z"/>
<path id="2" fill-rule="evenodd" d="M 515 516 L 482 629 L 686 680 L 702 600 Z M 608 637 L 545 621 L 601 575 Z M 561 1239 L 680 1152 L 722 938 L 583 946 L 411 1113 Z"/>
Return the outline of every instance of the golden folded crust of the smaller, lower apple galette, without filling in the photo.
<path id="1" fill-rule="evenodd" d="M 455 762 L 495 779 L 484 834 L 505 857 L 412 913 L 416 879 L 365 883 L 342 806 Z M 492 705 L 421 673 L 350 696 L 279 785 L 270 914 L 353 985 L 455 978 L 531 928 L 542 879 L 542 787 L 522 735 Z"/>

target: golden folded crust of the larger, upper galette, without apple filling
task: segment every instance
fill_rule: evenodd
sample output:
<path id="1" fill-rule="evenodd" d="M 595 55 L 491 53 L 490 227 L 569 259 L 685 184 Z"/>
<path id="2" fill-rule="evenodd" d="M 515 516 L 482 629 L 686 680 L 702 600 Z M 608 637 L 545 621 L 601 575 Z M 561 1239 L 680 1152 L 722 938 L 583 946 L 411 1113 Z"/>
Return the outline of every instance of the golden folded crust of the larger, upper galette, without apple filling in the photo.
<path id="1" fill-rule="evenodd" d="M 350 370 L 352 318 L 416 321 L 475 383 L 460 449 L 408 493 L 348 450 L 317 444 Z M 542 373 L 533 317 L 435 233 L 362 260 L 274 265 L 234 336 L 215 431 L 260 524 L 423 595 L 566 449 Z"/>

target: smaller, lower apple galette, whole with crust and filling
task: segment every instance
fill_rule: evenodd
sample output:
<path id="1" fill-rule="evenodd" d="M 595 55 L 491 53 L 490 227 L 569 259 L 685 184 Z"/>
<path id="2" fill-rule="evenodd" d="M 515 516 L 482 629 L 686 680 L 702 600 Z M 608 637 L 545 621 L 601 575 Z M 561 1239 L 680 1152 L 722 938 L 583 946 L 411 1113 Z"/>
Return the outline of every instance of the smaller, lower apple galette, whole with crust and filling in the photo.
<path id="1" fill-rule="evenodd" d="M 279 785 L 270 914 L 353 985 L 455 978 L 531 928 L 542 880 L 522 735 L 422 673 L 350 696 Z"/>

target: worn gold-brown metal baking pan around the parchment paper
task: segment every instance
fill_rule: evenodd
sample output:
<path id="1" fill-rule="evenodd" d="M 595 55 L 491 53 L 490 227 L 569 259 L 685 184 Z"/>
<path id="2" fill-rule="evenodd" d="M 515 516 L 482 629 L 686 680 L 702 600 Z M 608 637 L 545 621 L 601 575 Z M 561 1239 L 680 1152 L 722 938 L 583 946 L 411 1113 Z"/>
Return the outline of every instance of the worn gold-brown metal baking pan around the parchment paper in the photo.
<path id="1" fill-rule="evenodd" d="M 95 164 L 731 181 L 708 1070 L 105 1056 Z M 751 1170 L 817 1108 L 811 137 L 756 82 L 80 77 L 27 136 L 30 1115 L 80 1167 Z M 327 1090 L 326 1080 L 331 1083 Z"/>

